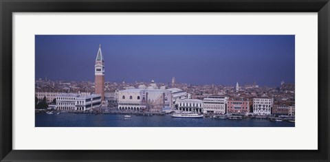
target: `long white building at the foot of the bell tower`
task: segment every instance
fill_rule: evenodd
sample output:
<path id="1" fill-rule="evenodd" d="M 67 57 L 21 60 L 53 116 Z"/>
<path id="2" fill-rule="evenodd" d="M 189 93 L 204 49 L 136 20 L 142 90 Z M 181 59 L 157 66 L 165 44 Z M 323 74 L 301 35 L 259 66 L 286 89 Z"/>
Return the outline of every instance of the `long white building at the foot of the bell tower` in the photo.
<path id="1" fill-rule="evenodd" d="M 62 93 L 56 96 L 56 108 L 63 111 L 88 111 L 101 106 L 101 95 Z"/>

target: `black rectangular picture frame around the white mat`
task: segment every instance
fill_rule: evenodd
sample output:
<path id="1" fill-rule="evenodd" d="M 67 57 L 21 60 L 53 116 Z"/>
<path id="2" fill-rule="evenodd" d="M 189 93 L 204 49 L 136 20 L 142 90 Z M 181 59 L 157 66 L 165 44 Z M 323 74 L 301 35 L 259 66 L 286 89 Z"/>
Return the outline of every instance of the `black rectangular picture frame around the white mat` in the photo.
<path id="1" fill-rule="evenodd" d="M 329 161 L 329 0 L 0 0 L 0 8 L 1 161 Z M 318 150 L 12 150 L 13 12 L 318 12 Z"/>

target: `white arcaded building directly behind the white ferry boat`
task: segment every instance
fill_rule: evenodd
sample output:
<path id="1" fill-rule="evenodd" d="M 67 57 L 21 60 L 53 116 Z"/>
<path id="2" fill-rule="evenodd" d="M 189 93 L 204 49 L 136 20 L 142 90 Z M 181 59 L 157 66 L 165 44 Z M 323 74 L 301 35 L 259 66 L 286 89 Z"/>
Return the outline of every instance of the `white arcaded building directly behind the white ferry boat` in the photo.
<path id="1" fill-rule="evenodd" d="M 203 113 L 203 101 L 197 99 L 184 99 L 177 101 L 179 111 Z"/>

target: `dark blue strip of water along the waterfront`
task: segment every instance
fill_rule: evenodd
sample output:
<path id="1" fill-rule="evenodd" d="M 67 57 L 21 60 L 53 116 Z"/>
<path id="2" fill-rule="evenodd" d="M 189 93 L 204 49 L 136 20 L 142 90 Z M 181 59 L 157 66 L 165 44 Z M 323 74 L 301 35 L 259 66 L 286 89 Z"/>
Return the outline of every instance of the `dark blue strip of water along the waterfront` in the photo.
<path id="1" fill-rule="evenodd" d="M 170 115 L 136 116 L 125 120 L 124 115 L 92 115 L 35 113 L 36 127 L 294 127 L 290 122 L 270 122 L 266 119 L 177 118 Z"/>

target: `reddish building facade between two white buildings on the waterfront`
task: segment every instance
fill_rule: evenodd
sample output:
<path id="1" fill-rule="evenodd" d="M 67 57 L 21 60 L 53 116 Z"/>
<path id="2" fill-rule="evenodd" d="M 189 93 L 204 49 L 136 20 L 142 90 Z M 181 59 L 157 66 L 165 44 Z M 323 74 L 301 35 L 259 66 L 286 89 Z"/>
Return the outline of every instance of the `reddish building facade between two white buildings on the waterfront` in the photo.
<path id="1" fill-rule="evenodd" d="M 232 114 L 248 114 L 252 108 L 253 101 L 244 97 L 229 97 L 228 113 Z"/>

